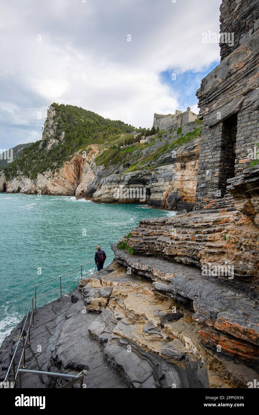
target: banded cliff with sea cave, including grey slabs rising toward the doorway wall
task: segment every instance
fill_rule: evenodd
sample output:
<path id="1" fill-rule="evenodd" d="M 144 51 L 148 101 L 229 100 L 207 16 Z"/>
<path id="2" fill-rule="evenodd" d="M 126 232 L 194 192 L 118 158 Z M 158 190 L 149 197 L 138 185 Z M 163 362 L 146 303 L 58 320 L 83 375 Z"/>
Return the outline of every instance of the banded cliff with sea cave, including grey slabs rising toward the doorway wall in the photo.
<path id="1" fill-rule="evenodd" d="M 96 176 L 93 201 L 101 203 L 148 203 L 150 206 L 173 210 L 192 210 L 195 202 L 200 137 L 183 144 L 176 151 L 161 156 L 159 167 L 136 170 L 106 177 Z M 139 196 L 121 197 L 120 189 L 138 189 Z M 92 189 L 92 184 L 89 185 Z M 143 190 L 145 189 L 145 193 Z M 85 193 L 89 195 L 89 193 Z M 144 195 L 144 197 L 143 197 Z"/>

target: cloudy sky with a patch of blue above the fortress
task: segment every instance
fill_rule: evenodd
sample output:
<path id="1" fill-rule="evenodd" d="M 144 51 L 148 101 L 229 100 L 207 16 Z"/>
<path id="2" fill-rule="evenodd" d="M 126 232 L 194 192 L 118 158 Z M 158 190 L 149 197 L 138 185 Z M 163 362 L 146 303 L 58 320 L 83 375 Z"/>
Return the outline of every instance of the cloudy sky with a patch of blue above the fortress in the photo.
<path id="1" fill-rule="evenodd" d="M 221 0 L 0 0 L 0 149 L 41 139 L 53 102 L 135 127 L 197 108 L 220 63 Z"/>

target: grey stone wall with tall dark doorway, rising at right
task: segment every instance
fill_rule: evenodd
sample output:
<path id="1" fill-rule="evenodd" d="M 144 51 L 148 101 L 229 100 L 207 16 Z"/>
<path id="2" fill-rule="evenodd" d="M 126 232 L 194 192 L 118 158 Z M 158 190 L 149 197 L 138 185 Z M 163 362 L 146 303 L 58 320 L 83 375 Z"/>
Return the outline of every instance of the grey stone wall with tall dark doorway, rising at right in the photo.
<path id="1" fill-rule="evenodd" d="M 227 181 L 242 175 L 253 161 L 248 154 L 259 142 L 258 57 L 257 29 L 202 80 L 197 90 L 203 119 L 197 209 L 222 198 Z"/>

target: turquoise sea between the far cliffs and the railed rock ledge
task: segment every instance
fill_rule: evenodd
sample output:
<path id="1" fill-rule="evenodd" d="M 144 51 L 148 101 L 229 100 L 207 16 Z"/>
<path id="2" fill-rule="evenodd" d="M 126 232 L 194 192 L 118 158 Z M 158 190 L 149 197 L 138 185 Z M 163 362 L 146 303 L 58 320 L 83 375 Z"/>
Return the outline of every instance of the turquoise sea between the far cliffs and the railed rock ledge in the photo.
<path id="1" fill-rule="evenodd" d="M 111 244 L 144 218 L 175 212 L 143 205 L 96 204 L 73 196 L 36 196 L 0 193 L 0 344 L 28 311 L 34 285 L 94 259 L 96 245 L 105 250 L 106 265 L 113 260 Z M 94 263 L 83 267 L 94 271 Z M 76 280 L 76 272 L 62 284 Z M 75 287 L 63 288 L 62 294 Z M 59 279 L 41 286 L 38 295 L 59 286 Z M 58 298 L 44 295 L 37 305 Z"/>

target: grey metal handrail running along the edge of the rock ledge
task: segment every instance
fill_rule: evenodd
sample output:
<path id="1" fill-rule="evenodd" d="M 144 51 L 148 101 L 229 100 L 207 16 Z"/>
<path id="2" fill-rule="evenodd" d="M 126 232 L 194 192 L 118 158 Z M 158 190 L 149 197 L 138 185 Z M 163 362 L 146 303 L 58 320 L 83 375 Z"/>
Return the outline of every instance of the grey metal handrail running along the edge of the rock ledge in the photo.
<path id="1" fill-rule="evenodd" d="M 111 256 L 113 256 L 113 255 L 108 255 L 106 258 L 109 258 Z M 62 288 L 68 286 L 69 284 L 73 284 L 75 282 L 81 281 L 83 279 L 83 275 L 87 275 L 87 274 L 91 273 L 92 271 L 88 271 L 88 272 L 84 273 L 82 267 L 84 265 L 92 264 L 93 262 L 95 262 L 95 261 L 86 262 L 86 264 L 82 264 L 81 265 L 81 268 L 79 270 L 69 272 L 67 274 L 61 275 L 61 276 L 56 277 L 56 278 L 52 278 L 51 280 L 44 281 L 43 283 L 39 283 L 39 284 L 36 284 L 34 286 L 34 293 L 32 295 L 32 299 L 30 300 L 29 310 L 27 312 L 27 315 L 26 315 L 26 318 L 25 318 L 25 322 L 24 322 L 24 325 L 22 327 L 22 332 L 20 334 L 20 338 L 17 341 L 16 347 L 15 347 L 15 352 L 12 355 L 12 359 L 11 359 L 10 365 L 9 365 L 9 367 L 7 369 L 5 378 L 4 378 L 4 380 L 2 382 L 0 382 L 0 387 L 2 386 L 3 383 L 6 382 L 7 376 L 9 375 L 10 370 L 11 370 L 11 367 L 12 367 L 12 377 L 13 377 L 14 388 L 15 388 L 16 387 L 16 379 L 17 379 L 18 373 L 19 373 L 19 379 L 20 379 L 20 372 L 21 371 L 25 371 L 25 368 L 27 367 L 26 366 L 26 356 L 25 356 L 25 346 L 26 346 L 26 344 L 30 344 L 30 327 L 34 327 L 34 314 L 37 312 L 37 309 L 36 309 L 36 299 L 42 297 L 43 295 L 52 293 L 53 291 L 60 290 L 60 300 L 62 300 Z M 79 272 L 79 271 L 81 271 L 81 278 L 79 278 L 77 280 L 74 280 L 74 281 L 71 281 L 70 283 L 64 284 L 63 286 L 61 285 L 61 278 L 66 277 L 68 275 L 71 275 L 73 273 Z M 54 280 L 57 280 L 57 279 L 60 280 L 59 287 L 54 288 L 53 290 L 47 291 L 47 293 L 43 293 L 43 294 L 37 295 L 37 287 L 38 286 L 40 286 L 42 284 L 45 284 L 45 283 L 49 283 L 50 281 L 54 281 Z M 31 310 L 31 305 L 32 305 L 32 310 Z M 30 312 L 31 312 L 31 315 L 30 315 Z M 28 317 L 29 317 L 29 319 L 28 319 Z M 27 327 L 27 332 L 25 332 L 25 325 L 26 325 L 27 320 L 28 320 L 28 327 Z M 31 324 L 31 322 L 32 322 L 32 324 Z M 25 333 L 26 333 L 26 337 L 25 337 Z M 27 339 L 29 339 L 28 342 L 27 342 Z M 22 354 L 20 356 L 19 364 L 18 364 L 17 370 L 15 372 L 15 360 L 14 359 L 15 359 L 15 354 L 17 352 L 17 348 L 18 348 L 21 340 L 23 342 Z M 20 365 L 22 363 L 22 358 L 23 358 L 23 366 L 22 366 L 23 369 L 20 369 Z M 32 371 L 32 370 L 27 370 L 27 371 L 32 372 L 32 373 L 34 373 L 34 372 L 36 373 L 37 372 L 37 371 Z M 39 371 L 39 372 L 41 374 L 48 373 L 48 374 L 50 374 L 50 376 L 63 375 L 63 374 L 52 374 L 51 375 L 52 372 L 42 372 L 42 371 Z M 65 376 L 70 377 L 70 376 L 76 376 L 76 375 L 65 375 Z M 63 376 L 63 377 L 65 377 L 65 376 Z M 67 383 L 66 385 L 69 386 L 70 383 L 71 382 Z M 72 381 L 72 383 L 73 383 L 73 381 Z M 76 382 L 74 382 L 74 383 L 76 383 Z M 67 387 L 66 385 L 62 386 L 62 388 Z"/>

